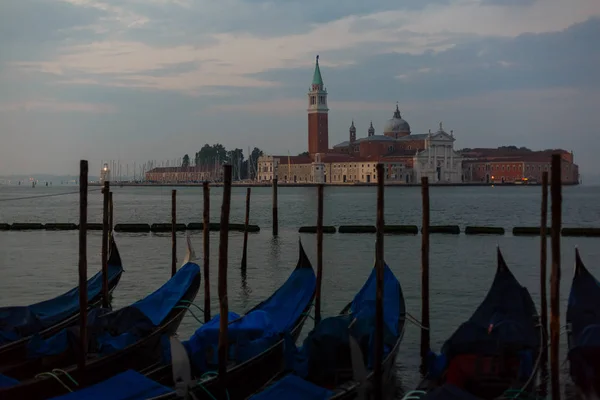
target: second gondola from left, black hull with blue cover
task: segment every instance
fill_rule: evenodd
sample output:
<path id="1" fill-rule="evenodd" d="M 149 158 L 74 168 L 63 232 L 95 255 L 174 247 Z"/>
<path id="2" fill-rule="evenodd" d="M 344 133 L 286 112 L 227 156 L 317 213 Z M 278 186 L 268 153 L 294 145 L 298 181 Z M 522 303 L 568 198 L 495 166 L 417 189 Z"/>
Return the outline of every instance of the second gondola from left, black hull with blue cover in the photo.
<path id="1" fill-rule="evenodd" d="M 0 367 L 4 381 L 0 399 L 46 399 L 154 364 L 162 356 L 163 340 L 175 333 L 199 287 L 200 267 L 186 262 L 144 299 L 118 311 L 93 309 L 88 313 L 88 354 L 83 371 L 74 365 L 78 326 L 48 339 L 34 336 L 27 344 L 27 360 Z"/>

